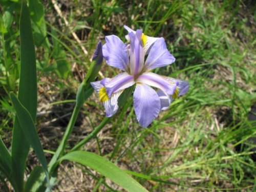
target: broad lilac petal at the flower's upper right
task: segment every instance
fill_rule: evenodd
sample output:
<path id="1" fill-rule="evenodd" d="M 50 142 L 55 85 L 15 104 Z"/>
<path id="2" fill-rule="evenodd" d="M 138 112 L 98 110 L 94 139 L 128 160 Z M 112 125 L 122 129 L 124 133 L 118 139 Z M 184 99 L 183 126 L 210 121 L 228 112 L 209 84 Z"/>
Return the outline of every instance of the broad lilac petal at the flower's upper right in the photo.
<path id="1" fill-rule="evenodd" d="M 175 58 L 166 48 L 164 38 L 159 38 L 152 46 L 145 62 L 145 69 L 152 70 L 172 64 Z"/>

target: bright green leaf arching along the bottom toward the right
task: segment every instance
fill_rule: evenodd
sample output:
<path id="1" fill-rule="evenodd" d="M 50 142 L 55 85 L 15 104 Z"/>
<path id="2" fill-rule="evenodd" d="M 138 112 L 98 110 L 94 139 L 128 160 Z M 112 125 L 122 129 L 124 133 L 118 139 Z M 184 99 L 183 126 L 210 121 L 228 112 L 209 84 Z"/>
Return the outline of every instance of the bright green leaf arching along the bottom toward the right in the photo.
<path id="1" fill-rule="evenodd" d="M 84 151 L 75 151 L 60 158 L 60 161 L 62 160 L 75 161 L 82 165 L 89 166 L 103 176 L 108 177 L 127 191 L 147 191 L 141 184 L 139 184 L 131 176 L 127 175 L 115 164 L 97 154 Z"/>

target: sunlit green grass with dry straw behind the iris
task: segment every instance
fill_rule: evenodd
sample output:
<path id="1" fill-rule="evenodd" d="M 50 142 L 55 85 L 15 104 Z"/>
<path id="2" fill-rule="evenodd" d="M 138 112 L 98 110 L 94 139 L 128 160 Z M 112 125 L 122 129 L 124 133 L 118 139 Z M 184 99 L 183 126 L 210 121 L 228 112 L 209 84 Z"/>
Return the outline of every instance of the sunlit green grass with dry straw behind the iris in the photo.
<path id="1" fill-rule="evenodd" d="M 33 20 L 37 77 L 43 90 L 39 91 L 39 108 L 45 102 L 74 99 L 67 95 L 76 92 L 104 35 L 124 40 L 122 26 L 127 25 L 150 36 L 163 36 L 176 62 L 156 72 L 187 80 L 189 92 L 147 129 L 139 126 L 131 97 L 96 138 L 97 147 L 87 145 L 86 149 L 122 165 L 150 191 L 255 190 L 255 144 L 247 140 L 256 135 L 255 122 L 248 121 L 256 101 L 253 1 L 62 2 L 62 12 L 89 54 L 83 53 L 53 5 L 44 1 L 44 20 Z M 8 146 L 14 114 L 8 94 L 17 91 L 19 73 L 16 7 L 3 4 L 1 9 L 2 15 L 15 11 L 11 24 L 6 17 L 0 18 L 0 134 Z M 41 27 L 39 33 L 36 25 L 42 23 L 47 32 Z M 42 38 L 44 34 L 47 38 Z M 105 63 L 101 72 L 105 77 L 118 73 Z M 83 126 L 90 130 L 104 118 L 96 94 L 84 105 L 85 116 L 89 120 Z M 46 121 L 49 118 L 40 117 L 40 122 Z M 94 190 L 114 189 L 90 169 L 82 170 L 99 180 Z"/>

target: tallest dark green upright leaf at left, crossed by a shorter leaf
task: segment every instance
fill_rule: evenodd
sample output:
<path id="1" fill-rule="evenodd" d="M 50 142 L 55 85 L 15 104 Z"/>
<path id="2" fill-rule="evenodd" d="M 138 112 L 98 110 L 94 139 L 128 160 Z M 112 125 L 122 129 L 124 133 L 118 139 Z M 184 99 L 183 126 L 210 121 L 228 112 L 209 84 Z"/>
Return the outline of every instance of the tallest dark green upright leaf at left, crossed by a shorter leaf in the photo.
<path id="1" fill-rule="evenodd" d="M 37 85 L 35 47 L 28 7 L 23 1 L 20 13 L 20 78 L 18 99 L 29 111 L 33 122 L 36 117 Z M 15 117 L 12 138 L 12 177 L 17 191 L 23 190 L 24 170 L 29 151 L 29 142 L 25 138 L 17 118 Z"/>

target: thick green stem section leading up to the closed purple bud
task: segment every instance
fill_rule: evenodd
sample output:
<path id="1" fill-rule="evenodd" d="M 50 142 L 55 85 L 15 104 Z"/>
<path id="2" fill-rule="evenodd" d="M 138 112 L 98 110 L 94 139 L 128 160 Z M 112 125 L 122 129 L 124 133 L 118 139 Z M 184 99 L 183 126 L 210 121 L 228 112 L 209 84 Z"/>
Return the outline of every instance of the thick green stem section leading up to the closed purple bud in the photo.
<path id="1" fill-rule="evenodd" d="M 59 144 L 59 146 L 58 146 L 54 156 L 52 157 L 52 159 L 51 159 L 51 161 L 49 163 L 49 168 L 48 168 L 49 173 L 52 172 L 53 167 L 55 167 L 53 165 L 58 160 L 58 157 L 60 155 L 62 155 L 64 150 L 65 150 L 65 146 L 66 146 L 68 138 L 69 138 L 69 136 L 70 136 L 70 134 L 71 134 L 71 132 L 73 130 L 73 127 L 75 125 L 75 122 L 76 122 L 76 119 L 77 119 L 77 116 L 79 114 L 80 109 L 81 109 L 80 106 L 75 105 L 74 111 L 72 113 L 72 117 L 71 117 L 71 119 L 69 121 L 69 124 L 68 124 L 68 127 L 66 129 L 66 132 L 65 132 L 64 136 L 62 137 L 62 140 L 61 140 L 61 142 L 60 142 L 60 144 Z"/>

